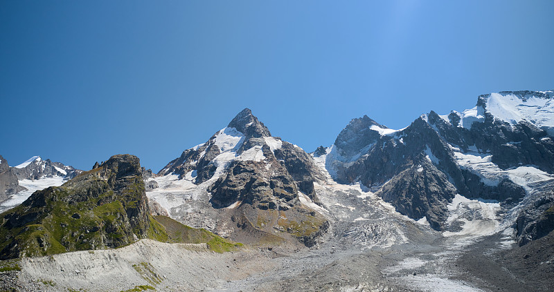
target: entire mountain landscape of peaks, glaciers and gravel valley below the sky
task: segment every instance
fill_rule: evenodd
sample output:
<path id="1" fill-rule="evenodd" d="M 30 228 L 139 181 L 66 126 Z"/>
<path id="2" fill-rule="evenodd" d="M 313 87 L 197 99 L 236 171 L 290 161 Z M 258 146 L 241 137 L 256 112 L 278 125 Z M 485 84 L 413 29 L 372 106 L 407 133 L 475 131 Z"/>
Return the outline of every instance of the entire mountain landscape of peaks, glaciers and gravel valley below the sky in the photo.
<path id="1" fill-rule="evenodd" d="M 554 91 L 355 118 L 313 153 L 246 108 L 177 155 L 0 156 L 0 291 L 553 289 Z"/>

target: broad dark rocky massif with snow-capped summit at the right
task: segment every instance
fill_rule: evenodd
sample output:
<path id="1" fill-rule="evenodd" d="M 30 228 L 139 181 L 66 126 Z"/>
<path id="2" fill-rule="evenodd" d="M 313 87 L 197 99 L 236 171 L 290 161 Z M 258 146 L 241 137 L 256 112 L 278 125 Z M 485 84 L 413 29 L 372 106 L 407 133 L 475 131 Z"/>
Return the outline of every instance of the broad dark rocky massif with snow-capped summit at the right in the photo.
<path id="1" fill-rule="evenodd" d="M 553 91 L 481 95 L 463 113 L 431 111 L 402 130 L 352 119 L 319 156 L 338 182 L 361 182 L 396 210 L 448 224 L 456 195 L 514 206 L 554 178 Z M 547 195 L 547 194 L 546 194 Z"/>

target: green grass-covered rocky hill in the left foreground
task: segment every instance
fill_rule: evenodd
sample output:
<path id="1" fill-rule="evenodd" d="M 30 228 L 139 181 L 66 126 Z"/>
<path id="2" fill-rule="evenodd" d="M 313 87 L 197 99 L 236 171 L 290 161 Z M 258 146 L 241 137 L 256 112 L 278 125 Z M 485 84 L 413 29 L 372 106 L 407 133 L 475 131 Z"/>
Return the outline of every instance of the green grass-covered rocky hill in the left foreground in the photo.
<path id="1" fill-rule="evenodd" d="M 162 242 L 232 243 L 207 231 L 152 215 L 138 157 L 114 155 L 62 186 L 33 193 L 0 215 L 0 259 L 67 251 L 108 249 L 140 239 Z M 190 234 L 177 237 L 176 233 Z M 197 233 L 197 235 L 195 235 Z M 220 245 L 221 245 L 220 244 Z"/>

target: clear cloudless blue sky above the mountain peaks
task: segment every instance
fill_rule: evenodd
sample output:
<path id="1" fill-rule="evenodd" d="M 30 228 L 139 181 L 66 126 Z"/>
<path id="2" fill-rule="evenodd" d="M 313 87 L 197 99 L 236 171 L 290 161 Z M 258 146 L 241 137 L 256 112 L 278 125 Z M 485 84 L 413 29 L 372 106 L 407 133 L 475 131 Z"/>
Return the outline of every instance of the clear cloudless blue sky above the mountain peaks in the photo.
<path id="1" fill-rule="evenodd" d="M 159 171 L 248 107 L 308 152 L 554 88 L 554 1 L 0 1 L 0 154 Z"/>

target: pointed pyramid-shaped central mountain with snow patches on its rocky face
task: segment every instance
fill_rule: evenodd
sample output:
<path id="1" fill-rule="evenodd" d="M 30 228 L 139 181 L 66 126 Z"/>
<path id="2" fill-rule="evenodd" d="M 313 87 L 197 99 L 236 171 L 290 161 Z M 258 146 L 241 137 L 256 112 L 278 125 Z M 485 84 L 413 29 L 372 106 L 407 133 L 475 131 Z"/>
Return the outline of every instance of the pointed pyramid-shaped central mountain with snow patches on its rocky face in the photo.
<path id="1" fill-rule="evenodd" d="M 184 150 L 150 179 L 159 188 L 148 195 L 181 222 L 236 241 L 280 241 L 292 235 L 314 245 L 328 228 L 313 209 L 321 204 L 314 191 L 321 179 L 310 155 L 272 137 L 245 108 L 206 143 Z"/>

